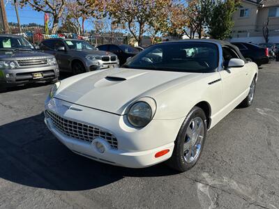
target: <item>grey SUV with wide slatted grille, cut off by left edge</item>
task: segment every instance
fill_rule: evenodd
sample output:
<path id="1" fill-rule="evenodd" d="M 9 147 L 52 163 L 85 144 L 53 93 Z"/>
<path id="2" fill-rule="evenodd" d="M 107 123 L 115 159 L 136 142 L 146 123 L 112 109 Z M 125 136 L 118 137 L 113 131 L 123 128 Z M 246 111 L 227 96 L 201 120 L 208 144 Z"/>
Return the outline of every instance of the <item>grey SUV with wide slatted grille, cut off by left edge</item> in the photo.
<path id="1" fill-rule="evenodd" d="M 56 82 L 59 68 L 51 54 L 36 51 L 23 36 L 0 35 L 0 91 L 31 82 Z"/>

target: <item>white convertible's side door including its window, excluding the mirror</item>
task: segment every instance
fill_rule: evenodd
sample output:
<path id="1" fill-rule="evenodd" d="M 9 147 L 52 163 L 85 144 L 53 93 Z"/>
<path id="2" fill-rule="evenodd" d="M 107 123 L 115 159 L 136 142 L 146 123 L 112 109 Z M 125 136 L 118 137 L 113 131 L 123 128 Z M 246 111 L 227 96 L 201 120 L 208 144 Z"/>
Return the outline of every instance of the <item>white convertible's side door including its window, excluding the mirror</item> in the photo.
<path id="1" fill-rule="evenodd" d="M 223 70 L 220 70 L 223 89 L 223 107 L 232 107 L 247 89 L 248 72 L 244 65 L 241 68 L 228 68 L 230 59 L 239 59 L 232 47 L 223 47 Z"/>

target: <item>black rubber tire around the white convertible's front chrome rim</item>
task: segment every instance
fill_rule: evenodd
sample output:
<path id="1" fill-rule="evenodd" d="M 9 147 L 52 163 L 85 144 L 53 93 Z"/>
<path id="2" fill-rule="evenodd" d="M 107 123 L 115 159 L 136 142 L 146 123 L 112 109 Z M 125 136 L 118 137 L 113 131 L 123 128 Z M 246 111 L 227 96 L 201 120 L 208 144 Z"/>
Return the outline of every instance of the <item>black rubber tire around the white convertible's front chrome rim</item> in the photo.
<path id="1" fill-rule="evenodd" d="M 195 118 L 200 118 L 200 124 L 202 123 L 202 127 L 200 130 L 203 132 L 203 138 L 202 141 L 199 144 L 199 154 L 195 157 L 193 157 L 192 162 L 187 162 L 186 161 L 186 156 L 188 155 L 189 152 L 184 150 L 184 146 L 187 144 L 187 140 L 189 139 L 187 130 L 191 126 L 193 120 Z M 192 167 L 195 166 L 197 160 L 199 160 L 199 157 L 202 153 L 202 150 L 204 148 L 204 141 L 206 140 L 206 133 L 207 133 L 207 126 L 206 126 L 206 116 L 204 114 L 204 111 L 199 108 L 199 107 L 193 107 L 191 111 L 189 112 L 188 116 L 186 117 L 185 121 L 181 125 L 181 128 L 179 130 L 179 134 L 176 137 L 176 140 L 174 141 L 174 151 L 172 153 L 172 157 L 167 160 L 167 165 L 171 167 L 172 169 L 175 169 L 177 171 L 188 171 Z M 198 138 L 198 136 L 197 136 Z M 197 141 L 198 139 L 196 139 Z M 195 145 L 194 145 L 195 146 Z M 196 146 L 197 147 L 197 146 Z M 191 151 L 191 154 L 192 155 Z"/>

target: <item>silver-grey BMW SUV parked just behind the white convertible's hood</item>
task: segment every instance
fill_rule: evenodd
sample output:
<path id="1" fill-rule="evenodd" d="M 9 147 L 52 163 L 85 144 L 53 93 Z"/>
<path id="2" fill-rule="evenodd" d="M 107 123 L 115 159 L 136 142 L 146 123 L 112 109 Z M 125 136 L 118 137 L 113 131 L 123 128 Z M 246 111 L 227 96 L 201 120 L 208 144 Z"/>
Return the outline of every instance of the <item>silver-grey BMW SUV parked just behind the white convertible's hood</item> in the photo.
<path id="1" fill-rule="evenodd" d="M 73 72 L 74 75 L 119 66 L 115 54 L 99 51 L 84 40 L 51 38 L 43 40 L 38 48 L 53 54 L 61 71 Z"/>

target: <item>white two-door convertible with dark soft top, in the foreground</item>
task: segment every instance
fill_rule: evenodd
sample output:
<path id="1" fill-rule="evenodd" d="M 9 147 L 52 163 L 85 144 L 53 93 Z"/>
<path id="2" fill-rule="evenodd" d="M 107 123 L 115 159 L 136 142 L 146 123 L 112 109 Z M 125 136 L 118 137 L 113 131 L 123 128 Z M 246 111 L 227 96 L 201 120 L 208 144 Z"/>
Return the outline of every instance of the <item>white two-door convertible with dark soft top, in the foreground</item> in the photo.
<path id="1" fill-rule="evenodd" d="M 218 40 L 152 45 L 122 68 L 56 83 L 45 123 L 74 153 L 121 167 L 193 167 L 206 132 L 252 104 L 257 65 Z"/>

